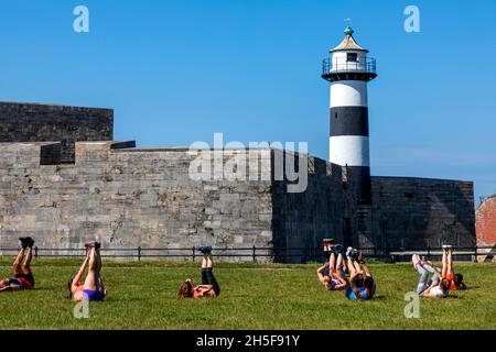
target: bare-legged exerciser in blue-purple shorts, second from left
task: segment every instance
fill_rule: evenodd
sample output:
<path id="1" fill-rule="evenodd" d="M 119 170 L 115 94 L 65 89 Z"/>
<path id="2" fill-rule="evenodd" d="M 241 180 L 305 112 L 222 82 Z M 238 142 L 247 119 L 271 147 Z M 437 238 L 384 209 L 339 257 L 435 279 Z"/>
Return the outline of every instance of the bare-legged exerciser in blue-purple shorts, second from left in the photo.
<path id="1" fill-rule="evenodd" d="M 68 283 L 69 299 L 76 301 L 101 301 L 107 296 L 107 289 L 101 279 L 101 255 L 100 243 L 86 243 L 86 257 L 79 268 L 76 277 Z M 86 275 L 85 283 L 82 285 L 80 280 L 85 274 L 86 266 L 88 267 L 88 275 Z"/>

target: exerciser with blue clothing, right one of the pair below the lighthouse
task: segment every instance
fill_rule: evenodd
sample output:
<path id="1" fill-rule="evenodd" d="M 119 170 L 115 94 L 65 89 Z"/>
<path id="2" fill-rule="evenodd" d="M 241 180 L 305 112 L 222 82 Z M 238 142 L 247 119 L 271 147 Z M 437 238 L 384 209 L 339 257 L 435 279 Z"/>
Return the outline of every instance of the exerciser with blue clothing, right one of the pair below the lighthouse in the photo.
<path id="1" fill-rule="evenodd" d="M 374 282 L 370 270 L 365 264 L 365 255 L 353 248 L 348 248 L 346 258 L 349 271 L 346 297 L 348 299 L 371 299 L 376 294 L 376 283 Z"/>

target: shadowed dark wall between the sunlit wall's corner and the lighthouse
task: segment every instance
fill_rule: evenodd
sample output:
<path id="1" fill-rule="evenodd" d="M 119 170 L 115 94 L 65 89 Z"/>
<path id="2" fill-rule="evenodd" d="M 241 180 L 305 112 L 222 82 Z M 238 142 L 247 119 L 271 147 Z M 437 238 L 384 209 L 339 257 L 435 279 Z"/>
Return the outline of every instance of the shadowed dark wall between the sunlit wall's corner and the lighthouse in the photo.
<path id="1" fill-rule="evenodd" d="M 272 232 L 277 262 L 323 260 L 320 249 L 325 238 L 345 245 L 358 244 L 356 199 L 346 176 L 351 175 L 341 166 L 310 157 L 304 193 L 288 193 L 288 180 L 273 182 Z"/>

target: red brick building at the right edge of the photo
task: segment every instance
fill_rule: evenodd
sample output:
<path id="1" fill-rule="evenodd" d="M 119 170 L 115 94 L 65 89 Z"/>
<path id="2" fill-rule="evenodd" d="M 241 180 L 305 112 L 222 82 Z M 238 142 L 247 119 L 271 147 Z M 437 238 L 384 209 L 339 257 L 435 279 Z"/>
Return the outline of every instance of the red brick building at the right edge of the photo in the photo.
<path id="1" fill-rule="evenodd" d="M 496 195 L 484 199 L 475 212 L 478 245 L 496 244 Z"/>

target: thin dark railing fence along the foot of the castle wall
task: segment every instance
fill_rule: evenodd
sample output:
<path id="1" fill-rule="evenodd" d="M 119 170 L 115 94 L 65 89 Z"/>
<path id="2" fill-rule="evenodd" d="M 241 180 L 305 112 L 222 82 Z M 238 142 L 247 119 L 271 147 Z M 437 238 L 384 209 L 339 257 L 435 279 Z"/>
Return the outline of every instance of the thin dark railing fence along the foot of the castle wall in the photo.
<path id="1" fill-rule="evenodd" d="M 384 262 L 403 262 L 409 261 L 412 254 L 419 254 L 427 260 L 435 260 L 441 257 L 442 249 L 438 248 L 424 248 L 424 249 L 380 249 L 380 248 L 363 248 L 359 249 L 367 257 L 376 258 Z M 476 261 L 478 256 L 485 256 L 486 261 L 493 260 L 496 256 L 496 246 L 481 245 L 475 248 L 453 248 L 454 260 L 462 258 L 464 261 Z M 14 255 L 18 249 L 2 249 L 0 248 L 1 255 Z M 101 249 L 103 257 L 122 258 L 122 260 L 163 260 L 163 258 L 176 258 L 176 260 L 192 260 L 202 256 L 202 254 L 195 248 L 188 249 L 149 249 L 149 248 L 134 248 L 134 249 Z M 233 248 L 233 249 L 214 249 L 214 257 L 239 260 L 241 262 L 299 262 L 306 263 L 310 261 L 319 261 L 324 258 L 324 253 L 321 248 Z M 85 255 L 85 249 L 40 249 L 34 248 L 34 257 L 82 257 Z"/>

